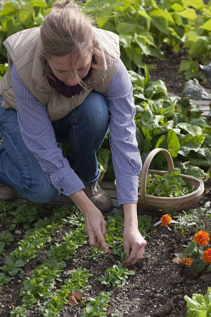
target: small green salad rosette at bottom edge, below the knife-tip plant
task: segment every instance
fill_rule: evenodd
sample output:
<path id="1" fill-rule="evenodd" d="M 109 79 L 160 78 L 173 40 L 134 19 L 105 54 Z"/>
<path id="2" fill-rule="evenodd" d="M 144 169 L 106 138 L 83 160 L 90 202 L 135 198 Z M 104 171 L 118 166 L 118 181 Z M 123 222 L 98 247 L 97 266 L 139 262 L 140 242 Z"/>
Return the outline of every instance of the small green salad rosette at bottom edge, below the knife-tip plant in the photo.
<path id="1" fill-rule="evenodd" d="M 110 301 L 111 293 L 102 292 L 99 296 L 88 297 L 88 303 L 82 309 L 79 317 L 93 317 L 93 316 L 107 316 L 106 307 L 110 307 L 108 304 Z"/>

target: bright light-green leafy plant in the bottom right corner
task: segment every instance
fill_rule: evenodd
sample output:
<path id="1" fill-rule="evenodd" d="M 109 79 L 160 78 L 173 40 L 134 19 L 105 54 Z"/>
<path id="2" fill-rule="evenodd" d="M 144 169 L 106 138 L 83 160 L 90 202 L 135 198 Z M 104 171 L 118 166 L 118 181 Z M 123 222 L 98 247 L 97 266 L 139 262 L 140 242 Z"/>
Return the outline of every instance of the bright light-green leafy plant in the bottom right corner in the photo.
<path id="1" fill-rule="evenodd" d="M 187 302 L 187 314 L 189 317 L 201 316 L 206 317 L 211 315 L 211 288 L 208 287 L 207 293 L 202 294 L 195 293 L 192 298 L 187 295 L 184 296 Z"/>

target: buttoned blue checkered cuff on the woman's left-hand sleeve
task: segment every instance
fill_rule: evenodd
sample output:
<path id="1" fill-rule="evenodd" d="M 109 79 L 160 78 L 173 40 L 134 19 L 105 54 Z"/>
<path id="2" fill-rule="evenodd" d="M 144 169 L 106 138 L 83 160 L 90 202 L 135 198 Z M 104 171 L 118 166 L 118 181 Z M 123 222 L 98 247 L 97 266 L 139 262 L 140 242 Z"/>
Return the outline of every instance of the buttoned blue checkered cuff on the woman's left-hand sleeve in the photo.
<path id="1" fill-rule="evenodd" d="M 71 167 L 66 166 L 48 177 L 49 182 L 63 195 L 70 196 L 86 187 Z"/>

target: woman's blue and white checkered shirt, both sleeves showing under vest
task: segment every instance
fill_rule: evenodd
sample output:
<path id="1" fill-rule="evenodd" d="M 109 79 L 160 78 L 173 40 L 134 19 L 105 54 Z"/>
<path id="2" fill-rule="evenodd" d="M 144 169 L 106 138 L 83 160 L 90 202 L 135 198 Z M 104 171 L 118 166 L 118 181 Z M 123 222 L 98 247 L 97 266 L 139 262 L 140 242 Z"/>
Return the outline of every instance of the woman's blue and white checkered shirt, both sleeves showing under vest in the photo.
<path id="1" fill-rule="evenodd" d="M 84 189 L 84 184 L 57 145 L 46 107 L 23 84 L 13 64 L 11 81 L 23 141 L 38 160 L 45 177 L 58 191 L 63 189 L 62 193 L 66 196 Z M 133 87 L 121 60 L 106 91 L 106 98 L 111 113 L 109 141 L 118 204 L 137 203 L 142 162 L 135 138 Z"/>

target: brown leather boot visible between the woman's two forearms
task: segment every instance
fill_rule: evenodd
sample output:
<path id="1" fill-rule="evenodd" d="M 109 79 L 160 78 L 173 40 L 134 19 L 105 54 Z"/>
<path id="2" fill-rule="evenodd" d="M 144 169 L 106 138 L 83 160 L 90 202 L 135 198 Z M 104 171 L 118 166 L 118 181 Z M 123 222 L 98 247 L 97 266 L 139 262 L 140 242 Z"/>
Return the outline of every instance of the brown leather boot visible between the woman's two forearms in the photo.
<path id="1" fill-rule="evenodd" d="M 103 213 L 109 212 L 113 209 L 113 202 L 106 191 L 104 191 L 98 184 L 84 184 L 84 190 L 87 197 L 93 204 Z"/>

